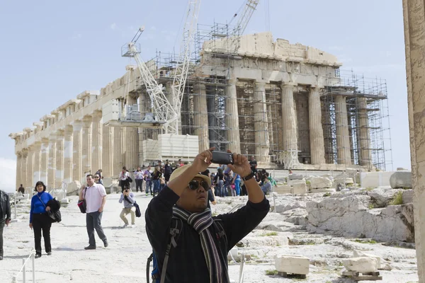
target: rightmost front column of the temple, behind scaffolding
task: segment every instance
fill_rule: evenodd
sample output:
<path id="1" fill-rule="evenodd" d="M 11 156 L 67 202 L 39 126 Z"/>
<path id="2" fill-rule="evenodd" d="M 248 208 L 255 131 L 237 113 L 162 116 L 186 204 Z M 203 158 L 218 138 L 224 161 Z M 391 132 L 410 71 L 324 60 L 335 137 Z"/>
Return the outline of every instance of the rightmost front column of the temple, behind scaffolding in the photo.
<path id="1" fill-rule="evenodd" d="M 370 133 L 368 118 L 368 103 L 366 98 L 358 98 L 357 100 L 357 127 L 358 127 L 358 145 L 359 158 L 361 166 L 372 166 L 372 156 L 370 154 Z"/>

